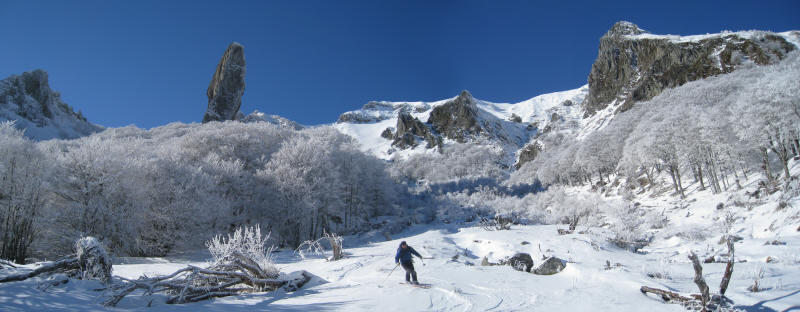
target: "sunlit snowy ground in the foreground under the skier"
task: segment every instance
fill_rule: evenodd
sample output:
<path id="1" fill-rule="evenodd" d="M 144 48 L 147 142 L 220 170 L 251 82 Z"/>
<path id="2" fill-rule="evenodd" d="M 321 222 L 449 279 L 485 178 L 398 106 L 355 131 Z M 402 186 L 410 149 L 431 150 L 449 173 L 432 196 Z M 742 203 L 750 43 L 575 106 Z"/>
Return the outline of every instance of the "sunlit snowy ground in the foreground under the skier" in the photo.
<path id="1" fill-rule="evenodd" d="M 291 251 L 275 254 L 282 272 L 307 270 L 316 275 L 293 293 L 262 293 L 226 297 L 184 305 L 166 305 L 161 295 L 135 293 L 109 310 L 148 311 L 682 311 L 680 305 L 639 292 L 643 285 L 696 292 L 686 250 L 703 258 L 718 253 L 718 236 L 687 241 L 678 237 L 632 253 L 609 243 L 608 233 L 589 229 L 584 234 L 558 235 L 557 226 L 514 226 L 508 231 L 486 231 L 480 227 L 417 226 L 395 235 L 394 240 L 368 242 L 369 237 L 348 237 L 346 258 L 328 262 L 322 258 L 301 260 Z M 582 228 L 579 227 L 579 230 Z M 375 236 L 377 237 L 377 235 Z M 391 275 L 393 257 L 401 240 L 423 256 L 416 259 L 419 279 L 430 289 L 400 282 L 402 268 Z M 800 235 L 780 237 L 786 245 L 764 245 L 766 238 L 736 243 L 737 259 L 728 297 L 745 311 L 794 311 L 800 309 Z M 527 243 L 526 243 L 527 242 Z M 528 244 L 529 243 L 529 244 Z M 346 243 L 345 246 L 348 246 Z M 541 249 L 540 249 L 541 248 Z M 513 270 L 509 266 L 481 266 L 526 252 L 534 267 L 543 253 L 567 261 L 564 271 L 550 276 Z M 778 258 L 765 263 L 766 256 Z M 204 265 L 203 252 L 168 258 L 117 259 L 114 274 L 137 278 L 168 274 L 187 264 Z M 611 268 L 606 268 L 606 261 Z M 712 292 L 725 264 L 703 265 Z M 758 270 L 763 270 L 763 291 L 749 292 Z M 5 273 L 5 272 L 4 272 Z M 649 277 L 658 274 L 661 278 Z M 386 279 L 389 275 L 388 279 Z M 100 311 L 98 282 L 71 280 L 66 285 L 44 289 L 42 279 L 0 284 L 3 311 Z M 38 290 L 37 286 L 43 290 Z M 147 308 L 147 305 L 151 305 Z"/>

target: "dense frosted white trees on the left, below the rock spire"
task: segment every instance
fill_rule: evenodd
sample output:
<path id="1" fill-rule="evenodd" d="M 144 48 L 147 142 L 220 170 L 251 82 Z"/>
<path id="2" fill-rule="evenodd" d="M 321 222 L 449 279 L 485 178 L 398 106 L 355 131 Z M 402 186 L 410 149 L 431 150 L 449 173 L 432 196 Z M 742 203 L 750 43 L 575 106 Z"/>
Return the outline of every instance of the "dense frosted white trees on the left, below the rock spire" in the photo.
<path id="1" fill-rule="evenodd" d="M 81 236 L 119 255 L 164 255 L 247 224 L 297 246 L 397 214 L 404 191 L 331 127 L 174 123 L 33 142 L 6 122 L 0 147 L 0 258 L 17 262 Z"/>

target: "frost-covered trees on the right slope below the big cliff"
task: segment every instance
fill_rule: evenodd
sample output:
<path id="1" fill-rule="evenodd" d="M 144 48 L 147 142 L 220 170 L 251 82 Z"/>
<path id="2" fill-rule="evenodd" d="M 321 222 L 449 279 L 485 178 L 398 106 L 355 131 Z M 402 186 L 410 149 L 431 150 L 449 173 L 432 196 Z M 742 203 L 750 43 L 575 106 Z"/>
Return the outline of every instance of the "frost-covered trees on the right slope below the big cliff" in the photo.
<path id="1" fill-rule="evenodd" d="M 511 181 L 582 185 L 624 177 L 644 188 L 665 173 L 685 196 L 687 178 L 719 193 L 759 171 L 769 188 L 778 176 L 790 179 L 788 161 L 800 151 L 798 77 L 800 53 L 793 52 L 775 65 L 665 90 L 585 138 L 537 142 L 542 153 Z"/>

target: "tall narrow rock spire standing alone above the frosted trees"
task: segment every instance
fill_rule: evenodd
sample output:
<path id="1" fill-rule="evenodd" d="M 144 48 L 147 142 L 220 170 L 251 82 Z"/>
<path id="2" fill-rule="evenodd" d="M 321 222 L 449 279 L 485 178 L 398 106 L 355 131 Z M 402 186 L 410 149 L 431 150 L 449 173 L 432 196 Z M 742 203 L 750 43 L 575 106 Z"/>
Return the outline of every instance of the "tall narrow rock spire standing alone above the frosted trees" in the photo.
<path id="1" fill-rule="evenodd" d="M 231 43 L 219 60 L 217 71 L 208 85 L 208 109 L 203 116 L 204 123 L 236 119 L 242 106 L 245 72 L 244 47 L 236 42 Z"/>

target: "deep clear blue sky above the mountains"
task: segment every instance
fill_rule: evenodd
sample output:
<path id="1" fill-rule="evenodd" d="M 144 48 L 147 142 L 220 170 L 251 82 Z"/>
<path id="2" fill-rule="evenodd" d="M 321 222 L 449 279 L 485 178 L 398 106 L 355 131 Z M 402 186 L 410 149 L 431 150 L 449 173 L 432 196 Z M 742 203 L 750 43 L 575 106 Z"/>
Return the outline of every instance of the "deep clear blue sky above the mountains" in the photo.
<path id="1" fill-rule="evenodd" d="M 227 45 L 254 109 L 313 125 L 369 100 L 517 102 L 586 83 L 618 20 L 659 34 L 800 30 L 800 1 L 0 0 L 0 76 L 36 68 L 92 122 L 199 122 Z"/>

